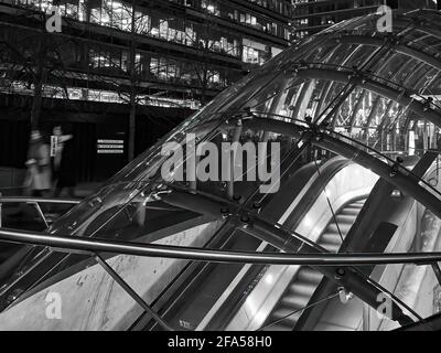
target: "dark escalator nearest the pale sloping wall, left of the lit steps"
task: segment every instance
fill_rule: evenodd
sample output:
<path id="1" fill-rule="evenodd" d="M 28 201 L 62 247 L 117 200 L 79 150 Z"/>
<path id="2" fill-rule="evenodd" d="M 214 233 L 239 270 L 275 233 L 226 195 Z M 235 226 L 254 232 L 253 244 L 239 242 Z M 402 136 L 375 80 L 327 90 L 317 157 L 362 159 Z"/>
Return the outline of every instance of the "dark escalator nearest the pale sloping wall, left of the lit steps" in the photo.
<path id="1" fill-rule="evenodd" d="M 288 208 L 297 195 L 302 195 L 308 183 L 315 181 L 322 184 L 323 180 L 332 179 L 335 173 L 344 169 L 348 162 L 341 158 L 332 159 L 324 163 L 321 173 L 316 172 L 314 163 L 308 163 L 293 172 L 291 180 L 288 181 L 287 192 L 282 193 L 281 199 L 277 201 L 280 208 L 280 215 Z M 289 192 L 288 192 L 289 190 Z M 313 188 L 316 191 L 316 188 Z M 314 197 L 312 197 L 314 199 Z M 213 244 L 208 248 L 220 248 L 223 250 L 248 250 L 248 252 L 276 252 L 269 245 L 243 232 L 224 232 L 215 235 Z M 260 247 L 260 248 L 259 248 Z M 243 265 L 234 264 L 189 264 L 189 267 L 176 277 L 175 285 L 171 285 L 152 304 L 161 315 L 173 327 L 180 330 L 194 330 L 204 319 L 206 313 L 216 303 L 219 297 L 226 291 L 236 276 L 243 270 Z M 254 266 L 250 274 L 256 278 L 263 266 Z M 238 291 L 244 293 L 249 289 L 247 281 L 237 285 Z M 225 319 L 228 321 L 228 319 Z M 139 318 L 130 330 L 159 330 L 160 328 L 149 318 Z"/>

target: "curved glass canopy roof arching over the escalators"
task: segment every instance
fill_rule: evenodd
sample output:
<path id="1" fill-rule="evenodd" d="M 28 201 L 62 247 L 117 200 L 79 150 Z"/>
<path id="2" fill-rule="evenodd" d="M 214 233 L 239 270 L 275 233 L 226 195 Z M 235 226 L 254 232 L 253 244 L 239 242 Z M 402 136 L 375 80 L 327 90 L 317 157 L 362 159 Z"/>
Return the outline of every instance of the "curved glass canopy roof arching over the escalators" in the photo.
<path id="1" fill-rule="evenodd" d="M 308 153 L 311 157 L 309 146 L 372 165 L 384 178 L 394 164 L 389 157 L 420 154 L 418 146 L 409 146 L 409 132 L 418 136 L 419 129 L 431 129 L 430 146 L 421 147 L 421 152 L 434 147 L 441 125 L 441 13 L 395 12 L 391 33 L 377 31 L 379 18 L 349 20 L 294 43 L 171 131 L 47 233 L 151 243 L 170 235 L 166 229 L 172 225 L 184 227 L 189 220 L 198 220 L 193 225 L 215 220 L 218 232 L 233 227 L 240 233 L 237 220 L 252 215 L 293 236 L 295 229 L 280 223 L 280 212 L 271 207 L 287 192 L 292 172 L 303 165 Z M 270 160 L 268 165 L 273 156 L 270 142 L 278 142 L 280 170 L 275 178 L 280 185 L 261 193 L 259 181 L 164 178 L 161 170 L 169 156 L 161 150 L 169 142 L 189 145 L 189 133 L 195 135 L 196 146 L 263 143 L 257 152 Z M 325 142 L 321 142 L 323 135 L 329 137 Z M 314 156 L 316 163 L 324 161 Z M 397 179 L 396 185 L 441 214 L 439 192 L 408 170 L 402 174 L 408 180 Z M 80 260 L 79 255 L 30 249 L 18 261 L 19 269 L 3 278 L 3 308 Z"/>

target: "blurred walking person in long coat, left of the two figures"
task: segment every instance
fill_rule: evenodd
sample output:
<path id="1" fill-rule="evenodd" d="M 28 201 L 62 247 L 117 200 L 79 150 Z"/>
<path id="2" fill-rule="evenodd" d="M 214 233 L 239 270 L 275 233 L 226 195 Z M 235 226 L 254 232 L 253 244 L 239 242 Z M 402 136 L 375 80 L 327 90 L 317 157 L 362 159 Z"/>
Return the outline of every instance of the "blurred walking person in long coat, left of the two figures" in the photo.
<path id="1" fill-rule="evenodd" d="M 32 196 L 43 196 L 51 190 L 51 150 L 39 130 L 31 132 L 26 167 L 25 185 L 29 186 Z"/>

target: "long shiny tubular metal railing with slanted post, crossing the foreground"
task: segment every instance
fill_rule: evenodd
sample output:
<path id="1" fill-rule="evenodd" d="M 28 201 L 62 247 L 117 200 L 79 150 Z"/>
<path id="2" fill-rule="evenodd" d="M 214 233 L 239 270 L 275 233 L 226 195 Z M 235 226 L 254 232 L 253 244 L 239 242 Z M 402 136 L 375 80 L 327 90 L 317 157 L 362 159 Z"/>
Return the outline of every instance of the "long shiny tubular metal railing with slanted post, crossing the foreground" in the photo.
<path id="1" fill-rule="evenodd" d="M 196 261 L 265 264 L 265 265 L 310 265 L 310 266 L 361 266 L 415 264 L 429 265 L 433 268 L 441 285 L 441 253 L 413 254 L 287 254 L 287 253 L 251 253 L 225 252 L 170 245 L 152 245 L 141 243 L 125 243 L 103 238 L 80 238 L 53 236 L 39 232 L 14 231 L 0 228 L 0 240 L 15 244 L 46 246 L 55 252 L 89 255 L 117 281 L 122 289 L 138 302 L 164 330 L 172 328 L 106 263 L 101 253 L 133 255 L 142 257 L 162 257 L 187 259 Z M 423 319 L 420 319 L 423 320 Z"/>

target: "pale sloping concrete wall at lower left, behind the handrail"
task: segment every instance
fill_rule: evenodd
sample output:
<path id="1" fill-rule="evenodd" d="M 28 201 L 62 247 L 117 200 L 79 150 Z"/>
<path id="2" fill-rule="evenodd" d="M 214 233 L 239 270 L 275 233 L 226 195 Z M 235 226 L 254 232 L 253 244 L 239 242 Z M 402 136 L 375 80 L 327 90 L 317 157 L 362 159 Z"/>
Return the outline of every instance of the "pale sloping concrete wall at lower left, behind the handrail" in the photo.
<path id="1" fill-rule="evenodd" d="M 219 223 L 206 223 L 153 244 L 202 247 Z M 186 260 L 115 256 L 108 264 L 148 302 L 152 302 L 187 264 Z M 60 295 L 62 318 L 49 319 Z M 56 282 L 0 313 L 0 330 L 126 330 L 142 309 L 99 266 Z M 51 315 L 50 315 L 51 317 Z"/>

